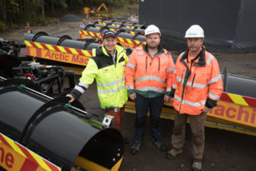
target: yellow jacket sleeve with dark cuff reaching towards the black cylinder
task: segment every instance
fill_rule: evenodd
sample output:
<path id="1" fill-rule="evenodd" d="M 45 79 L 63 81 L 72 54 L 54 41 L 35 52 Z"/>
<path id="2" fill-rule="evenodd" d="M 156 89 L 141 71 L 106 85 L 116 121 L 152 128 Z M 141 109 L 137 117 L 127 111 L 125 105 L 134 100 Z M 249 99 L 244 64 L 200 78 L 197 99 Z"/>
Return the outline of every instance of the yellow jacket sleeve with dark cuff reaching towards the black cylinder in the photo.
<path id="1" fill-rule="evenodd" d="M 71 91 L 71 95 L 78 99 L 82 93 L 88 89 L 89 85 L 94 82 L 94 78 L 96 78 L 98 74 L 98 66 L 94 62 L 92 58 L 90 58 L 86 69 L 82 71 L 82 77 L 79 79 L 78 85 L 74 86 L 74 89 Z"/>

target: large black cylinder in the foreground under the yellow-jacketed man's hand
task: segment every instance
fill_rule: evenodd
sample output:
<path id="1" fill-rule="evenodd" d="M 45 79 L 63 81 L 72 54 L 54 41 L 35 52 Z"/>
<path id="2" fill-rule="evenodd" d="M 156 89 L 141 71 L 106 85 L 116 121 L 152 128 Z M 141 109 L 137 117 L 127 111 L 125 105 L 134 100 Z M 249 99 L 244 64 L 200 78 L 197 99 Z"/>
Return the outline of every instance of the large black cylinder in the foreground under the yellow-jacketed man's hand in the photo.
<path id="1" fill-rule="evenodd" d="M 102 122 L 65 105 L 68 100 L 0 81 L 0 132 L 62 170 L 77 167 L 78 158 L 113 168 L 122 160 L 121 133 L 103 129 Z"/>

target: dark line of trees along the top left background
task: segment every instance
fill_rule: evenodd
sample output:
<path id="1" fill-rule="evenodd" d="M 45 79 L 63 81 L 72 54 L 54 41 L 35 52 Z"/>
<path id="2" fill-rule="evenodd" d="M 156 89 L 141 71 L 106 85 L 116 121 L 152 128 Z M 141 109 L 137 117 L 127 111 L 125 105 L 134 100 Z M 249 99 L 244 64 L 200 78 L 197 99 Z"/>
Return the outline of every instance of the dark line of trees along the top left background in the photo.
<path id="1" fill-rule="evenodd" d="M 122 6 L 126 3 L 138 3 L 138 0 L 1 0 L 0 31 L 8 27 L 14 29 L 26 21 L 44 23 L 46 18 L 68 10 L 80 10 L 82 6 L 99 6 L 105 2 L 108 6 Z"/>

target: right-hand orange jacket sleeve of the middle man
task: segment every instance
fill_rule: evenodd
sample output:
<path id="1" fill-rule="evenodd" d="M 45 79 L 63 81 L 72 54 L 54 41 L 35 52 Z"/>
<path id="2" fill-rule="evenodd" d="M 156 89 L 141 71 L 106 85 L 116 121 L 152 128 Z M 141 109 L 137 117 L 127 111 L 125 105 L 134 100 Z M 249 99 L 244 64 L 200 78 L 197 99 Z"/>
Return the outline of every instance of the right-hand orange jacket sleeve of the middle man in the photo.
<path id="1" fill-rule="evenodd" d="M 173 84 L 174 61 L 170 56 L 168 66 L 166 69 L 166 95 L 171 96 L 171 89 Z"/>

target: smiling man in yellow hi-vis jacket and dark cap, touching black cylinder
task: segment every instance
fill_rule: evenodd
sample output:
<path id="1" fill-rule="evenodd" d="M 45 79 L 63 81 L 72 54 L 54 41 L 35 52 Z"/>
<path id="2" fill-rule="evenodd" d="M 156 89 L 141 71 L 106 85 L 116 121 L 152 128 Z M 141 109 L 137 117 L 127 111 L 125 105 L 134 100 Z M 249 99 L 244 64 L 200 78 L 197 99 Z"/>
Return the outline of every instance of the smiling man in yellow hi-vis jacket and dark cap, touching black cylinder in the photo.
<path id="1" fill-rule="evenodd" d="M 67 97 L 70 102 L 78 99 L 82 93 L 94 82 L 98 87 L 98 98 L 107 114 L 114 116 L 114 127 L 121 131 L 124 108 L 128 99 L 125 86 L 125 66 L 128 62 L 126 50 L 117 45 L 113 31 L 106 31 L 103 35 L 102 46 L 93 50 L 82 78 Z"/>

